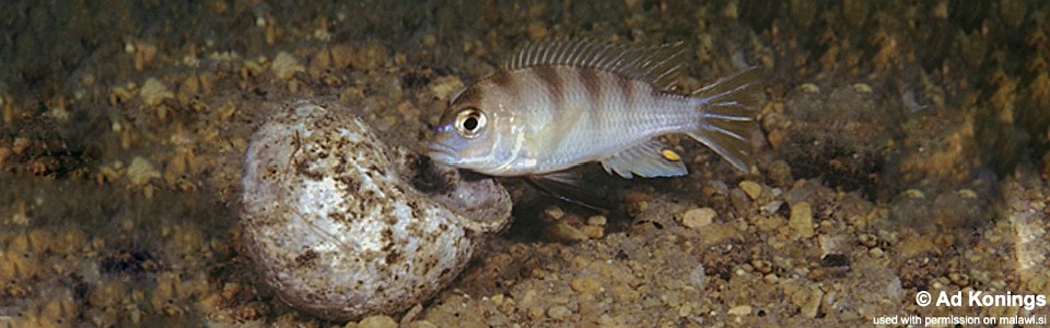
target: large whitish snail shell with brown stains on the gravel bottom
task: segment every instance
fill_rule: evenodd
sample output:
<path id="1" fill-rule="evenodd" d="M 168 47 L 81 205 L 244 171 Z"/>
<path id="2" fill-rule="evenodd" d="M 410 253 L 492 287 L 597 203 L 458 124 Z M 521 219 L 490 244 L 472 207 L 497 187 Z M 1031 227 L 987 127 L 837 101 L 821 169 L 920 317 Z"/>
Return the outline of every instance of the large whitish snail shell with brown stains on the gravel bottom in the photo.
<path id="1" fill-rule="evenodd" d="M 247 253 L 281 300 L 328 319 L 432 297 L 511 213 L 495 180 L 388 148 L 349 112 L 280 106 L 253 134 L 242 175 Z"/>

